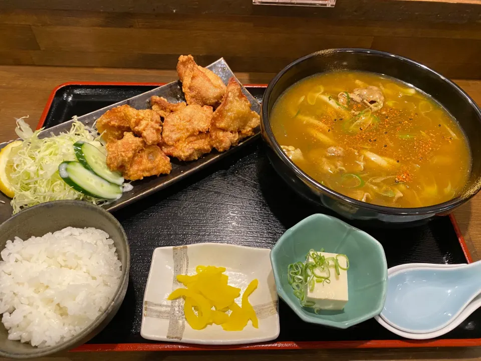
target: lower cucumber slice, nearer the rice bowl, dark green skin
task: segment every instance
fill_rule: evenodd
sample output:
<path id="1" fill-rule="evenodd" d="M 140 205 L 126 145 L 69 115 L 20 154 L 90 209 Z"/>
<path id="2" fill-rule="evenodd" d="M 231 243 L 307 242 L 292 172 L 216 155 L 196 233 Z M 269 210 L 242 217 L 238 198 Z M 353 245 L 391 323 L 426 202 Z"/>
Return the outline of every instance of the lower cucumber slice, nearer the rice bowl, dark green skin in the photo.
<path id="1" fill-rule="evenodd" d="M 64 161 L 59 165 L 59 173 L 65 183 L 87 196 L 117 200 L 122 197 L 122 187 L 107 182 L 80 162 Z"/>

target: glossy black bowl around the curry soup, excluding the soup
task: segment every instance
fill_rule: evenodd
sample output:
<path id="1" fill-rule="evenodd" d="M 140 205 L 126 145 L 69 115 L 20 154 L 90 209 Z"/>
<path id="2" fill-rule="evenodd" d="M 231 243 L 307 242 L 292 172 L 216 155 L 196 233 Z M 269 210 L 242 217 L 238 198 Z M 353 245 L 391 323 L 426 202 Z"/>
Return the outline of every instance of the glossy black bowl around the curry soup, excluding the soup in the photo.
<path id="1" fill-rule="evenodd" d="M 471 171 L 461 194 L 428 207 L 393 208 L 377 206 L 335 192 L 321 185 L 283 152 L 274 137 L 270 115 L 285 90 L 311 75 L 332 71 L 365 71 L 399 79 L 424 91 L 456 119 L 471 149 Z M 368 49 L 329 49 L 307 55 L 284 68 L 269 84 L 262 102 L 262 137 L 268 157 L 281 177 L 301 196 L 351 220 L 371 220 L 377 224 L 414 224 L 435 215 L 450 213 L 481 189 L 481 110 L 456 84 L 434 70 L 401 56 Z"/>

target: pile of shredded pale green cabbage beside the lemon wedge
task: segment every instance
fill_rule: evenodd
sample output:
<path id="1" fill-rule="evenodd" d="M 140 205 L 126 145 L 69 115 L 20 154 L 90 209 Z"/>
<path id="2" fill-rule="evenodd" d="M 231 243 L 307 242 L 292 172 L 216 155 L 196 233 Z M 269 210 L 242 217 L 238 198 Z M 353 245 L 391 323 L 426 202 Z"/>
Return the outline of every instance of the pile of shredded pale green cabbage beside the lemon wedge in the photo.
<path id="1" fill-rule="evenodd" d="M 78 140 L 88 141 L 105 152 L 96 140 L 95 129 L 74 117 L 74 123 L 66 133 L 52 133 L 50 137 L 39 139 L 41 130 L 32 131 L 23 118 L 17 119 L 15 131 L 24 141 L 12 149 L 8 160 L 12 166 L 9 178 L 15 192 L 11 202 L 14 214 L 27 207 L 58 200 L 84 200 L 96 205 L 107 203 L 74 190 L 60 177 L 58 170 L 62 161 L 76 160 L 73 144 Z"/>

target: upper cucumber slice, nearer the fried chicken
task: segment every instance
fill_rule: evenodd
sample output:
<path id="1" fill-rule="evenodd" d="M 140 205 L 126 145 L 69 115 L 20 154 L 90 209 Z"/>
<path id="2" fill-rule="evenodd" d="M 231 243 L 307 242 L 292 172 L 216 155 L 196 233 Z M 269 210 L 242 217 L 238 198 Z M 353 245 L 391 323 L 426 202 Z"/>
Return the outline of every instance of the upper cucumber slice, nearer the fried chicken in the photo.
<path id="1" fill-rule="evenodd" d="M 108 180 L 110 183 L 121 186 L 124 177 L 120 172 L 111 171 L 107 167 L 107 156 L 94 145 L 85 141 L 78 141 L 74 144 L 75 156 L 84 167 L 92 170 L 98 176 Z"/>

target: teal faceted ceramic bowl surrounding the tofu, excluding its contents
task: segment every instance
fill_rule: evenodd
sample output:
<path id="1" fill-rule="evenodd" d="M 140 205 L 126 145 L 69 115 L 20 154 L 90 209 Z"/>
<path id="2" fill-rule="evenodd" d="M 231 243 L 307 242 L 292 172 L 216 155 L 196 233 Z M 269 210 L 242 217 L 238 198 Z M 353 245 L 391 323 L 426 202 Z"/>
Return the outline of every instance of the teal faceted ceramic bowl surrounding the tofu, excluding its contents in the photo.
<path id="1" fill-rule="evenodd" d="M 342 311 L 302 307 L 287 280 L 290 263 L 305 261 L 310 249 L 342 253 L 349 258 L 348 302 Z M 301 319 L 336 328 L 348 328 L 381 313 L 386 299 L 387 263 L 381 244 L 367 233 L 337 218 L 312 215 L 282 235 L 271 251 L 279 296 Z"/>

